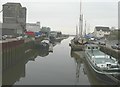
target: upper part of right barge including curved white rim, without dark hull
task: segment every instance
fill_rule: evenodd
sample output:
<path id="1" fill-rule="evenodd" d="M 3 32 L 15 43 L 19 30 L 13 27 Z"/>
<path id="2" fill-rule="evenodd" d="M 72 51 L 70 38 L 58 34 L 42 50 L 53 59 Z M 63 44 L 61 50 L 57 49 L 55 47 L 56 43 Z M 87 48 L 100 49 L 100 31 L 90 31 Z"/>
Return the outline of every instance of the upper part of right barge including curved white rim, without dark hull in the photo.
<path id="1" fill-rule="evenodd" d="M 103 74 L 120 74 L 120 64 L 118 60 L 101 52 L 98 45 L 86 45 L 85 56 L 96 72 Z"/>

